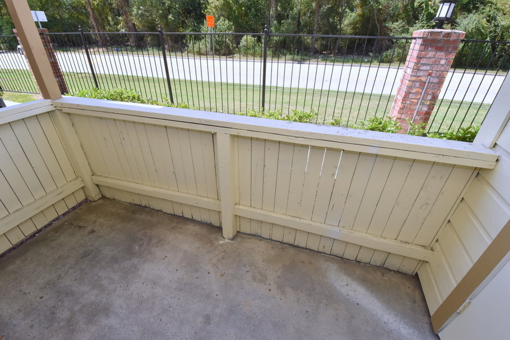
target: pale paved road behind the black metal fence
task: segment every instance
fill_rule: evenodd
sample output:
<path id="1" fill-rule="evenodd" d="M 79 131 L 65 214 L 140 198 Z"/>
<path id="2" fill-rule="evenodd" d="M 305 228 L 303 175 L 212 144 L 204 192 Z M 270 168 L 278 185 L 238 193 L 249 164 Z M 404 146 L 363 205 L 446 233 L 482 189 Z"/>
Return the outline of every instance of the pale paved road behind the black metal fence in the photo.
<path id="1" fill-rule="evenodd" d="M 85 54 L 57 53 L 60 66 L 67 72 L 90 72 Z M 92 55 L 96 73 L 138 75 L 164 78 L 163 58 L 140 55 Z M 16 53 L 0 54 L 0 68 L 24 65 Z M 181 80 L 198 80 L 236 84 L 262 84 L 260 61 L 232 58 L 168 58 L 170 76 Z M 11 68 L 20 68 L 12 66 Z M 267 64 L 267 85 L 277 87 L 340 90 L 394 94 L 402 69 L 390 67 L 350 66 L 297 62 Z M 492 103 L 504 80 L 504 74 L 464 73 L 450 71 L 440 98 Z"/>

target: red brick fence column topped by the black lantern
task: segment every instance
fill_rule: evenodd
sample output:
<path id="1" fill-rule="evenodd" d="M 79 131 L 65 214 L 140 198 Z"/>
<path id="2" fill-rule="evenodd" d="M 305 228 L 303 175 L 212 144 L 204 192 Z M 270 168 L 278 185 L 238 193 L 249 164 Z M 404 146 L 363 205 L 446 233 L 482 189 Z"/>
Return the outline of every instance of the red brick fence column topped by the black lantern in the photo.
<path id="1" fill-rule="evenodd" d="M 402 125 L 405 133 L 409 124 L 428 122 L 441 88 L 450 70 L 458 45 L 466 32 L 453 30 L 419 30 L 413 33 L 409 54 L 390 117 Z"/>

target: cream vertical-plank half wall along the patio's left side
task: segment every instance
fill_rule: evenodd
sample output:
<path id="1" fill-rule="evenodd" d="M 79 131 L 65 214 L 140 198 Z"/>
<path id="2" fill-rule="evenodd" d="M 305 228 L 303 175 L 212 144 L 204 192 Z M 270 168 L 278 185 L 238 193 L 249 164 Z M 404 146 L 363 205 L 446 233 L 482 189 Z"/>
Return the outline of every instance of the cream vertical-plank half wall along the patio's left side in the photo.
<path id="1" fill-rule="evenodd" d="M 0 111 L 0 253 L 85 199 L 47 112 L 53 106 L 20 107 Z"/>

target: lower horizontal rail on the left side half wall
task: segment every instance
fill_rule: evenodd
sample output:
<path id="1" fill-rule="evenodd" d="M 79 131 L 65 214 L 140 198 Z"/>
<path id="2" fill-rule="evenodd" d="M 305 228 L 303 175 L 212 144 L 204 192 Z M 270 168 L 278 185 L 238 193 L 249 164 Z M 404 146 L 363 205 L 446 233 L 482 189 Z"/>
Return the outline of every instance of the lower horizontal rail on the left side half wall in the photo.
<path id="1" fill-rule="evenodd" d="M 19 210 L 11 213 L 0 220 L 0 234 L 11 230 L 21 222 L 31 218 L 37 213 L 42 212 L 52 204 L 63 199 L 65 196 L 72 194 L 80 188 L 83 188 L 84 184 L 81 178 L 74 179 L 60 188 L 50 191 L 47 195 L 44 195 L 35 201 L 24 205 Z"/>

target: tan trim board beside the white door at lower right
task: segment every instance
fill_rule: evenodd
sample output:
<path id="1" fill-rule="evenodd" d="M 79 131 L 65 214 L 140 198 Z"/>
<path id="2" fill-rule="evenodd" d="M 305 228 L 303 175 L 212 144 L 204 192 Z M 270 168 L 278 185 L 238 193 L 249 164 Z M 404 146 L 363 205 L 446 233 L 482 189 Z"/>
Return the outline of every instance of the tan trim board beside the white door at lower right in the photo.
<path id="1" fill-rule="evenodd" d="M 510 251 L 510 221 L 430 318 L 437 333 Z"/>

